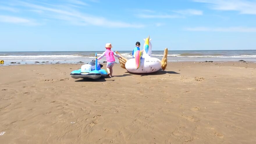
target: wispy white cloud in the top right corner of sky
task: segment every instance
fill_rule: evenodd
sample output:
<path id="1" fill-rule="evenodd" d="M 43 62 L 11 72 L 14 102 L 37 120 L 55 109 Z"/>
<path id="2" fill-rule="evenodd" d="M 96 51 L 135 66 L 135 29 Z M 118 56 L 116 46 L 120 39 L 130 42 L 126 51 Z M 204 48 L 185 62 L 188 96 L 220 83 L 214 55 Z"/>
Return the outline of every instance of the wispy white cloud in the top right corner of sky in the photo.
<path id="1" fill-rule="evenodd" d="M 214 10 L 235 10 L 241 14 L 256 14 L 256 1 L 248 0 L 193 0 L 194 2 L 208 3 Z"/>

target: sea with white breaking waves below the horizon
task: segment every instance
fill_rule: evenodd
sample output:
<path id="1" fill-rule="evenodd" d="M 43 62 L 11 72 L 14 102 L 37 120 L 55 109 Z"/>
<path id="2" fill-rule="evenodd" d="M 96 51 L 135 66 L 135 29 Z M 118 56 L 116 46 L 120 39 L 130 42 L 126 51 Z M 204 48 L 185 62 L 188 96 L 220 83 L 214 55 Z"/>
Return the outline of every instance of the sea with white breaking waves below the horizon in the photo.
<path id="1" fill-rule="evenodd" d="M 29 52 L 0 52 L 0 65 L 22 64 L 55 64 L 55 63 L 88 63 L 99 57 L 104 51 L 29 51 Z M 127 59 L 132 58 L 132 51 L 119 51 Z M 163 51 L 152 51 L 152 57 L 163 57 Z M 116 62 L 118 63 L 118 59 Z M 175 61 L 239 61 L 256 62 L 256 50 L 202 50 L 202 51 L 168 51 L 169 62 Z M 99 60 L 106 61 L 105 57 Z"/>

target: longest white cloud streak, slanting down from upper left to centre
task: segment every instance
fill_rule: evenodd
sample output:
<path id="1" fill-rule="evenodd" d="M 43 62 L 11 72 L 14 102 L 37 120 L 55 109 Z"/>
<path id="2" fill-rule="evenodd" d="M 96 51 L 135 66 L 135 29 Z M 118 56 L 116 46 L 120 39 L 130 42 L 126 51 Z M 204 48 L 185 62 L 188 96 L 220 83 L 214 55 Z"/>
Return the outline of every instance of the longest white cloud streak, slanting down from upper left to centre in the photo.
<path id="1" fill-rule="evenodd" d="M 106 27 L 133 27 L 133 28 L 140 28 L 144 27 L 142 24 L 130 24 L 126 22 L 118 22 L 118 21 L 111 21 L 104 17 L 97 17 L 93 15 L 88 15 L 85 13 L 80 13 L 77 10 L 63 10 L 57 8 L 50 8 L 46 6 L 35 5 L 26 2 L 20 2 L 22 6 L 33 8 L 35 10 L 43 11 L 45 15 L 56 18 L 62 19 L 65 21 L 69 21 L 72 24 L 78 25 L 96 25 L 96 26 L 106 26 Z"/>

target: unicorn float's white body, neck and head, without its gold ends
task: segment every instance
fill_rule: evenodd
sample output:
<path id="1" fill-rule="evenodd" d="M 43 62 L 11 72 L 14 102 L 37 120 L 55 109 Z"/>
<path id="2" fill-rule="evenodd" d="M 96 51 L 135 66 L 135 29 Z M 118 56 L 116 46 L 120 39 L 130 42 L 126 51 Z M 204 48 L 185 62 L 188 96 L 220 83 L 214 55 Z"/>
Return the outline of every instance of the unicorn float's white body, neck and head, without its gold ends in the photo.
<path id="1" fill-rule="evenodd" d="M 150 38 L 144 39 L 145 44 L 143 46 L 143 55 L 140 59 L 139 66 L 136 67 L 136 61 L 139 61 L 139 57 L 131 58 L 125 63 L 125 68 L 129 72 L 133 73 L 150 73 L 150 72 L 156 72 L 161 69 L 162 62 L 158 58 L 152 58 L 152 45 L 150 42 Z"/>

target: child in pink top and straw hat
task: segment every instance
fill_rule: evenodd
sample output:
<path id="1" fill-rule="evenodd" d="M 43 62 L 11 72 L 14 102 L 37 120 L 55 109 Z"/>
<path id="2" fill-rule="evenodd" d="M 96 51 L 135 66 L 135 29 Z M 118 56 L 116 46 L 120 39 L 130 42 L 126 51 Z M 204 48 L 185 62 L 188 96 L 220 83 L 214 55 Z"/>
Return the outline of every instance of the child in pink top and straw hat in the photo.
<path id="1" fill-rule="evenodd" d="M 113 66 L 115 64 L 115 58 L 114 56 L 121 58 L 120 56 L 118 56 L 114 51 L 111 51 L 111 43 L 107 43 L 106 44 L 106 51 L 104 51 L 104 53 L 97 58 L 97 60 L 100 60 L 101 58 L 103 58 L 104 56 L 106 56 L 106 60 L 107 60 L 107 71 L 109 73 L 109 76 L 112 77 L 112 73 L 113 73 Z M 121 58 L 122 59 L 122 58 Z"/>

